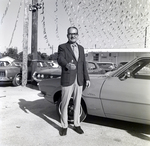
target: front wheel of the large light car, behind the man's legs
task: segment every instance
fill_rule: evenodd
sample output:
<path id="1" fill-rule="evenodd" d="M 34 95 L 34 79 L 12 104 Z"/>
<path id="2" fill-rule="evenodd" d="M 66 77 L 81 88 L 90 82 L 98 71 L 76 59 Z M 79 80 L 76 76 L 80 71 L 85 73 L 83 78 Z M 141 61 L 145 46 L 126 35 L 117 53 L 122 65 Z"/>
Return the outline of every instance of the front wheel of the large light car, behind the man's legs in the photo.
<path id="1" fill-rule="evenodd" d="M 61 100 L 59 99 L 56 104 L 56 108 L 57 108 L 57 112 L 58 112 L 59 116 L 61 115 L 60 107 L 61 107 Z M 73 99 L 71 98 L 69 101 L 69 105 L 68 105 L 68 122 L 69 123 L 74 122 L 73 116 L 74 116 L 74 104 L 73 104 Z M 85 109 L 85 106 L 83 106 L 83 104 L 81 104 L 80 121 L 81 122 L 84 121 L 86 116 L 87 116 L 87 111 Z"/>

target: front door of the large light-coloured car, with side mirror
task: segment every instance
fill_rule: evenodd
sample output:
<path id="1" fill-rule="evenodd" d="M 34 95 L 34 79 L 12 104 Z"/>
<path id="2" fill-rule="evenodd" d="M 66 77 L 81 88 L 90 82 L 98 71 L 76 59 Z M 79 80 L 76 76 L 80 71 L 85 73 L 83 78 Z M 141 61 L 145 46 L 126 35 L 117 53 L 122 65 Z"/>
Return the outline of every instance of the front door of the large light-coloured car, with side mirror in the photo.
<path id="1" fill-rule="evenodd" d="M 150 124 L 149 62 L 140 60 L 128 68 L 130 71 L 107 78 L 101 92 L 107 117 Z"/>

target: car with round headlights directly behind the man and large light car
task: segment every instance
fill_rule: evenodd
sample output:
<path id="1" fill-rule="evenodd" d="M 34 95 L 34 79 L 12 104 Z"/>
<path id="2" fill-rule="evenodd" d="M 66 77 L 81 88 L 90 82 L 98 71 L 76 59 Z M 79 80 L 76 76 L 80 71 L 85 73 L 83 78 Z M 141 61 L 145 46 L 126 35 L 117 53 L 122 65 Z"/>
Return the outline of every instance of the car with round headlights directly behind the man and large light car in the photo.
<path id="1" fill-rule="evenodd" d="M 87 69 L 89 74 L 104 74 L 105 70 L 99 68 L 96 62 L 87 61 Z M 40 71 L 35 71 L 33 73 L 33 79 L 36 82 L 40 82 L 42 80 L 57 78 L 61 76 L 61 67 L 51 67 L 49 69 L 43 69 Z"/>

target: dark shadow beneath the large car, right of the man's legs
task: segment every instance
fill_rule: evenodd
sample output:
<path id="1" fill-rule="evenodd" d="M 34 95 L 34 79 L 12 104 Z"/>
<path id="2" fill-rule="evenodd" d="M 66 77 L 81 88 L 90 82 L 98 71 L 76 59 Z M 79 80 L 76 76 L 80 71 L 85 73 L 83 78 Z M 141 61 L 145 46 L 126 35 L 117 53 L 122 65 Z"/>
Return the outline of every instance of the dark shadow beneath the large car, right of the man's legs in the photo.
<path id="1" fill-rule="evenodd" d="M 84 122 L 126 130 L 132 136 L 150 141 L 150 137 L 147 136 L 150 135 L 149 125 L 125 122 L 125 121 L 96 117 L 96 116 L 87 116 Z"/>

